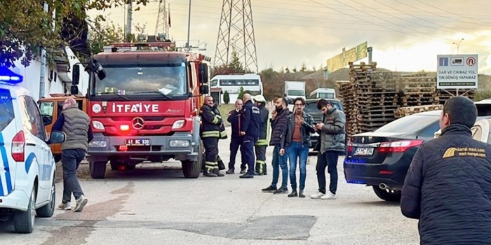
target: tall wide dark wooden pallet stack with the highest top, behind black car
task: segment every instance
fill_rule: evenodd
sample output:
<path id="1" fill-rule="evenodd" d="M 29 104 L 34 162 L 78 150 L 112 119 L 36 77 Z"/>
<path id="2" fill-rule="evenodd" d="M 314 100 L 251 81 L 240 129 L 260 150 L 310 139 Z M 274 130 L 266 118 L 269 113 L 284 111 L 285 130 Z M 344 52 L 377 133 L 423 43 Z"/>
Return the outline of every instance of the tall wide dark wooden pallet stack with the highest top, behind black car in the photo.
<path id="1" fill-rule="evenodd" d="M 396 80 L 390 73 L 376 70 L 375 64 L 350 64 L 351 78 L 356 85 L 361 132 L 376 130 L 394 120 L 398 108 Z"/>

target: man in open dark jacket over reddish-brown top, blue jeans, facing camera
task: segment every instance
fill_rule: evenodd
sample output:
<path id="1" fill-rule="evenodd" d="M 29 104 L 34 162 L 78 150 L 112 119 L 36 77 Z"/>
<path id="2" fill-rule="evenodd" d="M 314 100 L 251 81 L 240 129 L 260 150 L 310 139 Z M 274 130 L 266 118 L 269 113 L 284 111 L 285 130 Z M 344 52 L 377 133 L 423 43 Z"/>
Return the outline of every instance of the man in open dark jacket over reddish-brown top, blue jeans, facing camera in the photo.
<path id="1" fill-rule="evenodd" d="M 304 112 L 305 100 L 297 98 L 293 101 L 295 113 L 288 116 L 288 134 L 286 146 L 288 160 L 290 160 L 290 183 L 292 193 L 288 197 L 305 197 L 305 178 L 307 177 L 307 158 L 311 146 L 310 134 L 316 132 L 314 118 Z M 300 189 L 297 193 L 297 159 L 300 162 Z"/>

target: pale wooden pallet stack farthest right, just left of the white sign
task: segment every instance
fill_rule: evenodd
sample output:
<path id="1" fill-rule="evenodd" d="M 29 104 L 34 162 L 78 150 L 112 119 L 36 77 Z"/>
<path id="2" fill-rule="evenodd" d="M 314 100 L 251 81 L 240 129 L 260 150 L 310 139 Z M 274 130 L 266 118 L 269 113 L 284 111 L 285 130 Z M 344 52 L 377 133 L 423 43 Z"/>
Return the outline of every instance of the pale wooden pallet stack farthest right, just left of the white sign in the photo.
<path id="1" fill-rule="evenodd" d="M 415 73 L 398 77 L 401 106 L 425 106 L 439 104 L 436 77 Z"/>

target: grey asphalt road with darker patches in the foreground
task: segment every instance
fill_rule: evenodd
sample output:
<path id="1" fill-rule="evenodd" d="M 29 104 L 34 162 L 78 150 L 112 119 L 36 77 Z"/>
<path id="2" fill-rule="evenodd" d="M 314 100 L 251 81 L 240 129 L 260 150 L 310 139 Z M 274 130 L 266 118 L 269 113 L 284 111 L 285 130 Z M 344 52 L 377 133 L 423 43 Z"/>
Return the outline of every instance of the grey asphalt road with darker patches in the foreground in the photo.
<path id="1" fill-rule="evenodd" d="M 223 159 L 228 144 L 220 141 Z M 311 156 L 306 195 L 317 190 L 315 162 Z M 52 218 L 37 218 L 29 235 L 0 224 L 0 244 L 419 244 L 417 221 L 371 188 L 346 183 L 342 158 L 337 200 L 262 193 L 271 183 L 270 166 L 267 176 L 254 179 L 238 173 L 184 179 L 179 162 L 107 169 L 106 179 L 92 180 L 87 165 L 79 168 L 88 197 L 81 213 L 56 210 Z M 56 187 L 59 203 L 62 183 Z"/>

